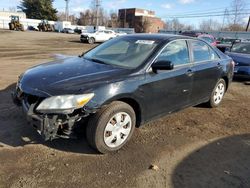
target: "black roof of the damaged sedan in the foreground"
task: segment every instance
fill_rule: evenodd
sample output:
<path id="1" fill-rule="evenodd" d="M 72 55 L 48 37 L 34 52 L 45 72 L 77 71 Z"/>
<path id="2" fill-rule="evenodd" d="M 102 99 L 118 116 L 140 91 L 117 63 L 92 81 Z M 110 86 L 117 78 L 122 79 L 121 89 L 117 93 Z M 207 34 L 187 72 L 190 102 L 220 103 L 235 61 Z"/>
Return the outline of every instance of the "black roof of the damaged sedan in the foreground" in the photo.
<path id="1" fill-rule="evenodd" d="M 129 34 L 125 35 L 126 37 L 136 37 L 138 39 L 144 40 L 168 40 L 168 39 L 193 39 L 193 37 L 184 36 L 184 35 L 173 35 L 173 34 L 160 34 L 160 33 L 138 33 L 138 34 Z"/>

